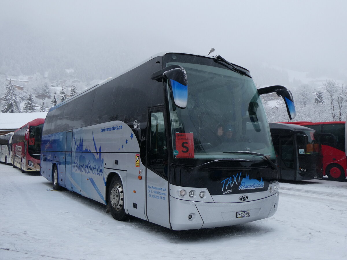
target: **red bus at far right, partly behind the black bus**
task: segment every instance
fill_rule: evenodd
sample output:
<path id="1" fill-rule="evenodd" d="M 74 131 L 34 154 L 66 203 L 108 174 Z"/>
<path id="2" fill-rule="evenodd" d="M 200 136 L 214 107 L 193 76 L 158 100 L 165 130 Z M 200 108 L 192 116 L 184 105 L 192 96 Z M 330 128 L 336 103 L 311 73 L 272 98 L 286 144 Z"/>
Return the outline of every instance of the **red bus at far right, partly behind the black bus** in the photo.
<path id="1" fill-rule="evenodd" d="M 346 148 L 345 121 L 332 122 L 281 122 L 287 124 L 304 125 L 320 134 L 323 154 L 323 175 L 329 180 L 345 181 L 346 179 Z"/>

